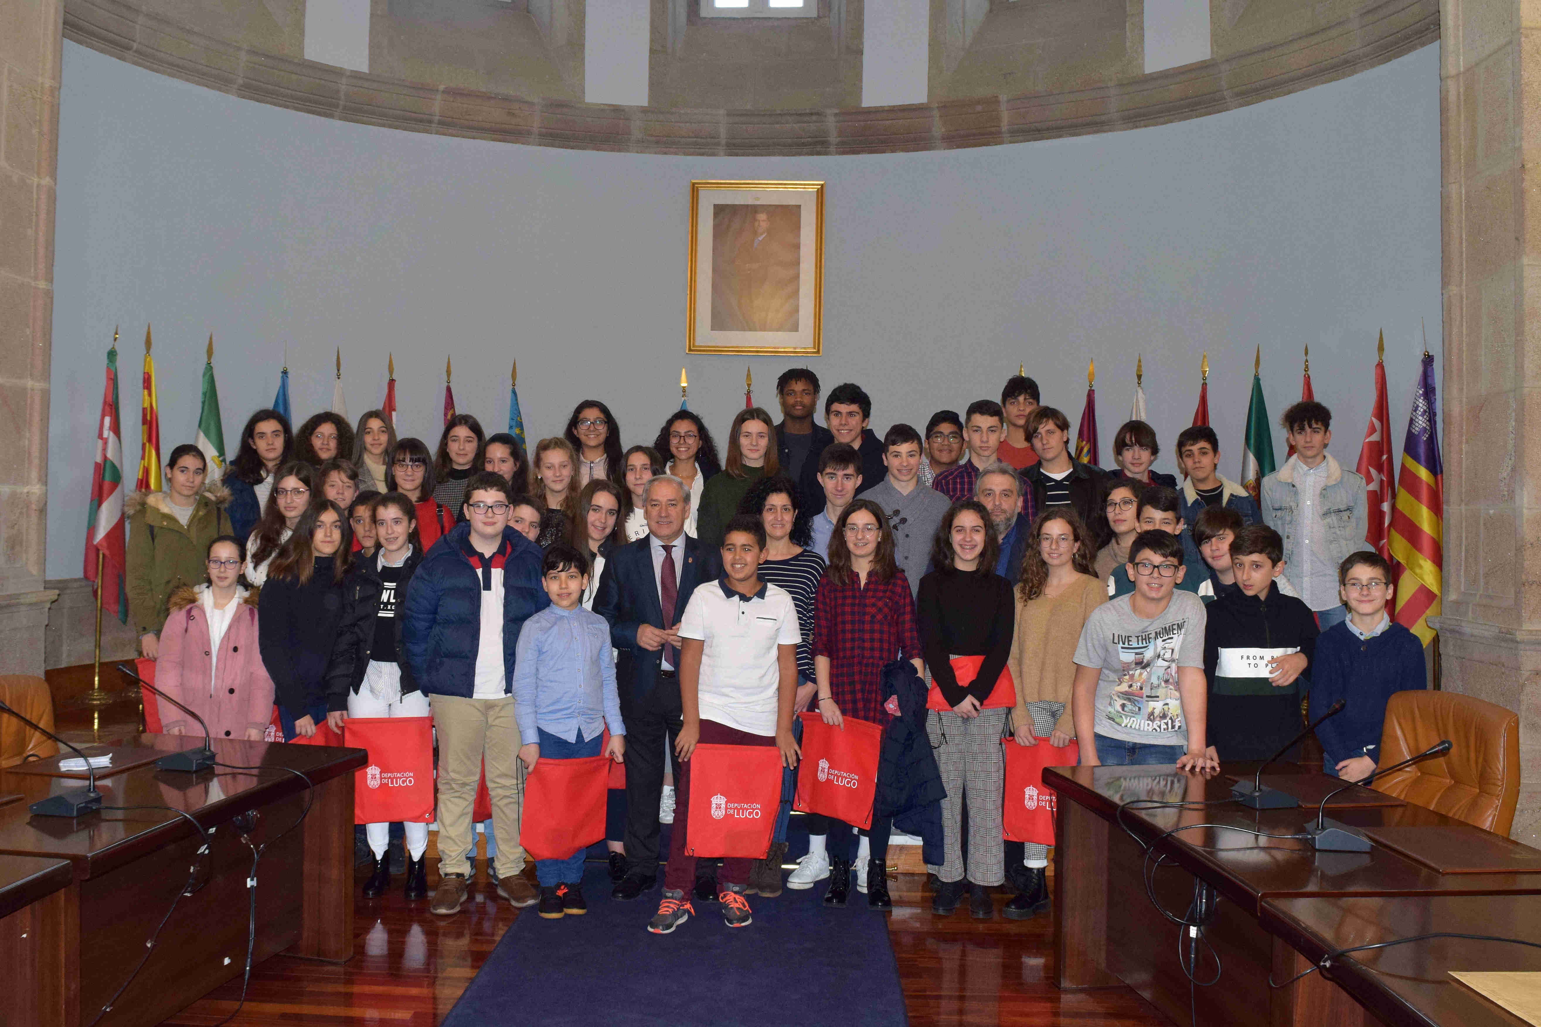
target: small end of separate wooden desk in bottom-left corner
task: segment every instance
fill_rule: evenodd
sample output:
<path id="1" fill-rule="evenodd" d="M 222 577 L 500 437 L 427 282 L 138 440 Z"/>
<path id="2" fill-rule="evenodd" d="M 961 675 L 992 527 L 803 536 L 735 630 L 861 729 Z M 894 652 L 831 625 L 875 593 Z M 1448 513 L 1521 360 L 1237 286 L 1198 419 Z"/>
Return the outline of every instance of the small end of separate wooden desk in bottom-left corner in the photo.
<path id="1" fill-rule="evenodd" d="M 72 879 L 65 859 L 0 856 L 0 1024 L 63 1022 Z"/>

